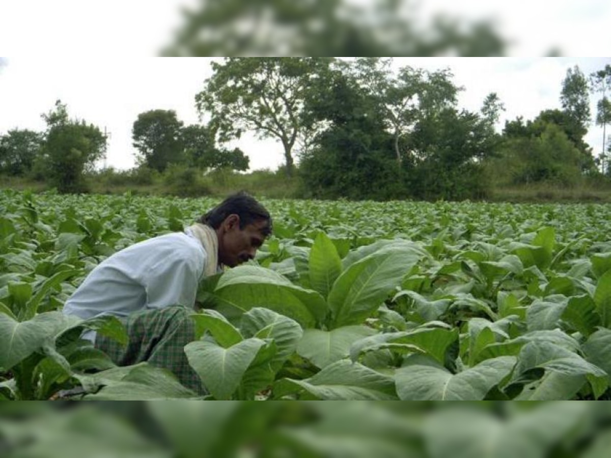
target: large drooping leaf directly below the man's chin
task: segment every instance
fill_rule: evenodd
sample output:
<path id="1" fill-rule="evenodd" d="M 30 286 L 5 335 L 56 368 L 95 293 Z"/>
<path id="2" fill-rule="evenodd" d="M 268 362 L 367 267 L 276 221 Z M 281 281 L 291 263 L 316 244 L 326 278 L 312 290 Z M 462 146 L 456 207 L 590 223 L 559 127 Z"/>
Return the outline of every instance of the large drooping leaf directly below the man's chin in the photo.
<path id="1" fill-rule="evenodd" d="M 236 321 L 253 307 L 264 307 L 295 319 L 302 327 L 314 327 L 324 319 L 323 297 L 293 285 L 277 272 L 258 266 L 240 266 L 225 272 L 214 289 L 218 310 Z"/>

